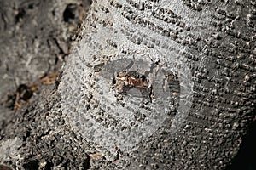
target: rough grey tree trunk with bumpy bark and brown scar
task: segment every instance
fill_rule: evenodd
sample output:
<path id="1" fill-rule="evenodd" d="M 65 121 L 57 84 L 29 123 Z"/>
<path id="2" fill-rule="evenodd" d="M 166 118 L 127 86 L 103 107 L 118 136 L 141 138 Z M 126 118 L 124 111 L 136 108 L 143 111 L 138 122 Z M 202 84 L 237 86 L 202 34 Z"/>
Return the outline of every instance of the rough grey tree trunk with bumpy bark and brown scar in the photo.
<path id="1" fill-rule="evenodd" d="M 255 18 L 253 0 L 94 1 L 55 86 L 1 131 L 0 161 L 224 169 L 255 117 Z"/>

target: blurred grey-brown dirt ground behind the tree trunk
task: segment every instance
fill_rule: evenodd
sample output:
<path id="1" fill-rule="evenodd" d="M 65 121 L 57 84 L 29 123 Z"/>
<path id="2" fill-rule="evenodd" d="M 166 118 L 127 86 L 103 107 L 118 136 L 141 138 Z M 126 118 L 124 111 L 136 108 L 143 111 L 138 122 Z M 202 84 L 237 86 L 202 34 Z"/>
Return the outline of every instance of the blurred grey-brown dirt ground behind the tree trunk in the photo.
<path id="1" fill-rule="evenodd" d="M 89 7 L 87 0 L 1 1 L 0 111 L 16 110 L 55 82 Z"/>

